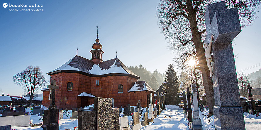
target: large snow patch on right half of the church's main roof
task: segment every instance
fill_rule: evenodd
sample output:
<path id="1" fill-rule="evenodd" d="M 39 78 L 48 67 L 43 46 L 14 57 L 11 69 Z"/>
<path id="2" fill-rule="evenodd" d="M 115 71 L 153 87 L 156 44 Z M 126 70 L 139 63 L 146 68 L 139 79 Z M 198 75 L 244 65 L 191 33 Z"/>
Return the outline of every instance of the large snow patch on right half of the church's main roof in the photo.
<path id="1" fill-rule="evenodd" d="M 111 65 L 109 69 L 102 70 L 99 65 L 93 65 L 91 70 L 89 70 L 91 74 L 109 74 L 109 73 L 121 73 L 128 74 L 126 70 L 124 70 L 121 66 L 116 65 L 116 59 L 114 60 L 114 64 Z"/>

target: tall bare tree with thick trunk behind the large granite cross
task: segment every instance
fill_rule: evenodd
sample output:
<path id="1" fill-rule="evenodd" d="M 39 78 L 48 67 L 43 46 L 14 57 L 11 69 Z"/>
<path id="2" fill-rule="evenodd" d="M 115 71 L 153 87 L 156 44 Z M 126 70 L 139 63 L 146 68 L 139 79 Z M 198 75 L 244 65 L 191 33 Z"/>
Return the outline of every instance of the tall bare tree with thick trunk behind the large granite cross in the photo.
<path id="1" fill-rule="evenodd" d="M 261 0 L 226 0 L 227 8 L 238 7 L 241 25 L 251 23 Z M 170 48 L 178 53 L 177 62 L 184 64 L 189 57 L 196 56 L 202 72 L 209 116 L 213 115 L 214 92 L 203 42 L 206 37 L 204 14 L 207 4 L 215 0 L 161 0 L 157 7 L 162 33 L 170 42 Z M 247 24 L 246 24 L 247 23 Z"/>

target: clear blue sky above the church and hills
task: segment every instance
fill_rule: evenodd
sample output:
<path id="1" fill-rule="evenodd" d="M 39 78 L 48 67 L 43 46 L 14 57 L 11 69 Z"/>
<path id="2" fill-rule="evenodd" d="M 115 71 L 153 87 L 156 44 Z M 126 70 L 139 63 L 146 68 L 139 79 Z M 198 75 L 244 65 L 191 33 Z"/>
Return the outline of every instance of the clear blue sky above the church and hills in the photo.
<path id="1" fill-rule="evenodd" d="M 0 7 L 0 92 L 5 95 L 23 94 L 12 78 L 28 65 L 38 65 L 49 81 L 46 73 L 74 57 L 77 48 L 79 56 L 90 59 L 97 24 L 103 60 L 115 58 L 117 51 L 118 58 L 126 66 L 141 64 L 148 70 L 165 72 L 168 64 L 174 63 L 175 53 L 168 49 L 169 44 L 157 23 L 158 0 L 1 0 L 1 3 L 43 4 L 43 11 L 38 12 L 9 12 L 9 9 L 20 8 Z M 261 63 L 260 23 L 261 18 L 257 18 L 233 41 L 237 70 Z M 245 72 L 248 74 L 259 68 Z"/>

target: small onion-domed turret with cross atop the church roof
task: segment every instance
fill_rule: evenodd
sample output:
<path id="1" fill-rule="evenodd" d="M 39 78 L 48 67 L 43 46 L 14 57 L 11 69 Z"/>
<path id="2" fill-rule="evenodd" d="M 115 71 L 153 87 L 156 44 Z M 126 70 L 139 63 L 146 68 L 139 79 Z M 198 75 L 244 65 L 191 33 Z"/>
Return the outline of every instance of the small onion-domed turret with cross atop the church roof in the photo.
<path id="1" fill-rule="evenodd" d="M 91 60 L 94 62 L 94 64 L 99 64 L 103 60 L 101 59 L 102 54 L 104 53 L 101 48 L 101 44 L 99 43 L 100 40 L 98 39 L 98 29 L 99 27 L 97 26 L 97 39 L 95 40 L 96 43 L 92 45 L 93 50 L 91 50 Z"/>

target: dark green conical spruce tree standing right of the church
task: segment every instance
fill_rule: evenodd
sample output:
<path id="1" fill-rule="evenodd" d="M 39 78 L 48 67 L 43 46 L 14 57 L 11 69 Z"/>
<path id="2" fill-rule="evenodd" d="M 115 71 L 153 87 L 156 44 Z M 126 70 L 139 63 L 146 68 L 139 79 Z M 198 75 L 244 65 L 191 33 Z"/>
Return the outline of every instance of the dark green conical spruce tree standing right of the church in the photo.
<path id="1" fill-rule="evenodd" d="M 166 105 L 178 105 L 179 104 L 179 86 L 177 72 L 175 72 L 173 65 L 170 64 L 165 72 L 166 78 L 164 78 L 164 91 Z"/>

